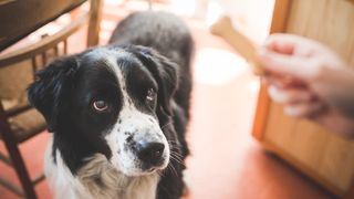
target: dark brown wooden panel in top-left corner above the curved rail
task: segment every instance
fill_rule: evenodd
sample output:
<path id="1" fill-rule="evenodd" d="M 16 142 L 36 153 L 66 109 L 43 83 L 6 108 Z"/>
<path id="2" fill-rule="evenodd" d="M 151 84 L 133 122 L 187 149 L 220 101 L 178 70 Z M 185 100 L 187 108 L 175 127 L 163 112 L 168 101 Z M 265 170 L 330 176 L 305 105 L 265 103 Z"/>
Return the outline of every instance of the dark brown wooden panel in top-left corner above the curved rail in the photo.
<path id="1" fill-rule="evenodd" d="M 85 1 L 0 0 L 0 51 Z M 100 3 L 98 0 L 91 0 L 92 18 L 97 17 Z"/>

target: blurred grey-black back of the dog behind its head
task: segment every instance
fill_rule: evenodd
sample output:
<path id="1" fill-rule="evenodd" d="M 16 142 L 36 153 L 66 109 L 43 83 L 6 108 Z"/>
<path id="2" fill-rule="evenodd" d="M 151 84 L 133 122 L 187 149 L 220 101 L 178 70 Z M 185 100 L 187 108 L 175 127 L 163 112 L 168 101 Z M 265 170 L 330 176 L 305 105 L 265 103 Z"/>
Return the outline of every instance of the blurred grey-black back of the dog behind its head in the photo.
<path id="1" fill-rule="evenodd" d="M 184 21 L 167 12 L 136 12 L 117 25 L 110 43 L 149 46 L 177 63 L 180 74 L 174 100 L 189 118 L 194 41 Z"/>

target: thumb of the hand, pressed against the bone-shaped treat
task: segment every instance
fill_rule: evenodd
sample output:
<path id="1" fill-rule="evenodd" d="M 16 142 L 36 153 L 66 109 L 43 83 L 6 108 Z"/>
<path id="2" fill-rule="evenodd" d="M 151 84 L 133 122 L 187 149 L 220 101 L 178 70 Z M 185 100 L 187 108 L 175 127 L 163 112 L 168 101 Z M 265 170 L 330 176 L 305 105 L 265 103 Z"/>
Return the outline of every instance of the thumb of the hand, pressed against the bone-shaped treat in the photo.
<path id="1" fill-rule="evenodd" d="M 259 62 L 266 71 L 308 80 L 314 70 L 313 59 L 281 54 L 266 49 L 259 52 Z"/>

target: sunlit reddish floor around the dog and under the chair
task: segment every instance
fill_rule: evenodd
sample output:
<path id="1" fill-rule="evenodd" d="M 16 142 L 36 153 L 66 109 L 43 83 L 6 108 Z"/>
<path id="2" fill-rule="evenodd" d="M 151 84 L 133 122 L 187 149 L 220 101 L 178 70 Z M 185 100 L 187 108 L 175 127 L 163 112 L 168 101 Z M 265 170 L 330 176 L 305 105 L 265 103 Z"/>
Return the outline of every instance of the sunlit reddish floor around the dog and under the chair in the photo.
<path id="1" fill-rule="evenodd" d="M 102 43 L 107 40 L 115 21 L 126 13 L 118 6 L 105 7 Z M 197 51 L 188 132 L 191 156 L 186 171 L 190 192 L 186 199 L 331 198 L 287 164 L 264 154 L 252 139 L 258 78 L 230 46 L 208 33 L 202 22 L 191 19 L 187 22 Z M 49 134 L 43 133 L 21 146 L 33 176 L 43 168 L 48 137 Z M 0 150 L 3 148 L 0 143 Z M 18 182 L 14 172 L 3 164 L 0 164 L 0 175 Z M 45 181 L 37 186 L 37 191 L 41 199 L 51 198 Z M 0 187 L 0 198 L 18 197 Z"/>

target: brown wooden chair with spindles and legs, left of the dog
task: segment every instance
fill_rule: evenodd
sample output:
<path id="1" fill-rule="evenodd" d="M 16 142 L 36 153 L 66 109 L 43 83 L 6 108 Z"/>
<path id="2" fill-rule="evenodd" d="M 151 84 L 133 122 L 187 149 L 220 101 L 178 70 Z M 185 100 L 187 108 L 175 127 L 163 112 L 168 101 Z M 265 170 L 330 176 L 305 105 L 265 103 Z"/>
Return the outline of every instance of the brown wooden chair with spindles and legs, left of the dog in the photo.
<path id="1" fill-rule="evenodd" d="M 19 40 L 85 1 L 0 1 L 0 51 L 8 51 Z M 0 160 L 14 168 L 22 189 L 1 176 L 0 185 L 19 196 L 37 198 L 34 185 L 44 179 L 43 175 L 33 180 L 30 178 L 19 150 L 19 144 L 45 129 L 43 117 L 27 101 L 25 88 L 33 80 L 33 72 L 45 66 L 55 56 L 67 53 L 67 38 L 80 28 L 88 24 L 87 46 L 98 43 L 102 6 L 102 0 L 91 0 L 86 13 L 72 20 L 56 33 L 45 35 L 34 44 L 8 53 L 2 51 L 0 54 L 0 139 L 9 154 L 0 154 Z"/>

